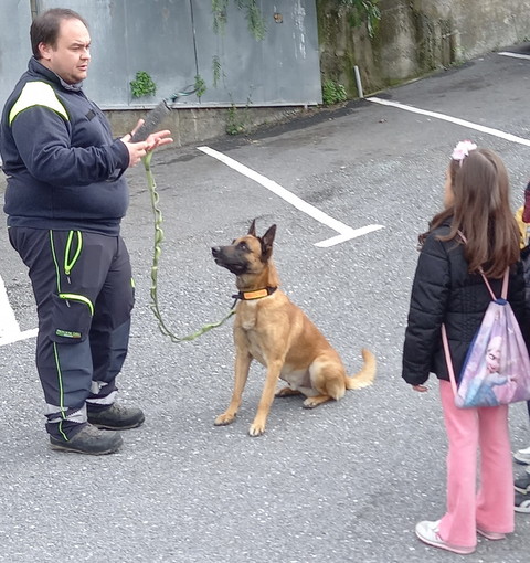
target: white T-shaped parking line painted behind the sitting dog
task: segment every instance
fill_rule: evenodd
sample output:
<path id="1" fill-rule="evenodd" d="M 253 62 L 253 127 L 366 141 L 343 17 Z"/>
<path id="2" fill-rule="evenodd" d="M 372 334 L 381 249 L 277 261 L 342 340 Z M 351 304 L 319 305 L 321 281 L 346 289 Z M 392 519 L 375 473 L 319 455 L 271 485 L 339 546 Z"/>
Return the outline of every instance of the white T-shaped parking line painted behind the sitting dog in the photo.
<path id="1" fill-rule="evenodd" d="M 371 233 L 372 231 L 384 229 L 383 225 L 368 225 L 362 229 L 352 229 L 351 226 L 344 225 L 340 221 L 330 217 L 329 215 L 320 211 L 318 208 L 315 208 L 310 203 L 307 203 L 306 201 L 301 200 L 300 198 L 289 192 L 275 181 L 269 180 L 265 176 L 262 176 L 258 172 L 256 172 L 255 170 L 245 167 L 241 162 L 237 162 L 237 160 L 234 160 L 233 158 L 230 158 L 226 155 L 223 155 L 222 152 L 211 149 L 210 147 L 197 147 L 197 148 L 200 151 L 204 152 L 205 155 L 209 155 L 210 157 L 215 158 L 219 161 L 223 162 L 227 167 L 236 170 L 243 176 L 246 176 L 251 180 L 254 180 L 255 182 L 259 183 L 261 185 L 272 191 L 276 195 L 279 195 L 282 199 L 294 205 L 296 209 L 303 211 L 307 215 L 311 216 L 312 219 L 319 221 L 320 223 L 325 224 L 326 226 L 329 226 L 330 229 L 339 233 L 339 236 L 333 236 L 332 238 L 328 238 L 327 241 L 315 243 L 315 246 L 319 247 L 333 246 L 336 244 L 343 243 L 351 238 L 356 238 L 357 236 Z"/>

